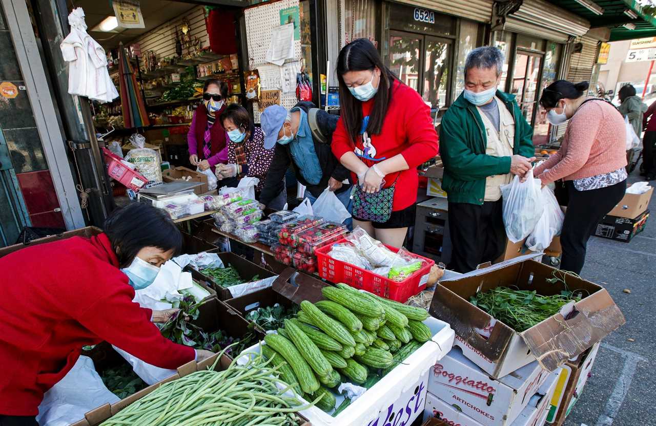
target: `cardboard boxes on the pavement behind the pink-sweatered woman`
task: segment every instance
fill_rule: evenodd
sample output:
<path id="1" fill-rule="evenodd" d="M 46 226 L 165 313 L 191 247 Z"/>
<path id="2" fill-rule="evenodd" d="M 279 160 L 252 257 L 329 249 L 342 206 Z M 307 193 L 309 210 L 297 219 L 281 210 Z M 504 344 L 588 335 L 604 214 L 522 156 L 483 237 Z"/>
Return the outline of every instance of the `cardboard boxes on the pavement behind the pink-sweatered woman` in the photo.
<path id="1" fill-rule="evenodd" d="M 626 193 L 622 201 L 598 223 L 594 235 L 617 241 L 631 241 L 645 229 L 652 193 L 653 187 L 643 194 Z"/>

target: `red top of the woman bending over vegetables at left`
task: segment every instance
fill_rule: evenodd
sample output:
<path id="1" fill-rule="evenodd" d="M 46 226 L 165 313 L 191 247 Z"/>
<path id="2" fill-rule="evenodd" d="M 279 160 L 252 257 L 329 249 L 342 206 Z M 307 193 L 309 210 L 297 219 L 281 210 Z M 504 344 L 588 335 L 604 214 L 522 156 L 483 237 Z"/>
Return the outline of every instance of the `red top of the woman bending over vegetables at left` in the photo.
<path id="1" fill-rule="evenodd" d="M 103 340 L 161 368 L 194 360 L 163 338 L 105 234 L 39 244 L 0 258 L 0 415 L 36 416 L 43 393 L 84 345 Z"/>

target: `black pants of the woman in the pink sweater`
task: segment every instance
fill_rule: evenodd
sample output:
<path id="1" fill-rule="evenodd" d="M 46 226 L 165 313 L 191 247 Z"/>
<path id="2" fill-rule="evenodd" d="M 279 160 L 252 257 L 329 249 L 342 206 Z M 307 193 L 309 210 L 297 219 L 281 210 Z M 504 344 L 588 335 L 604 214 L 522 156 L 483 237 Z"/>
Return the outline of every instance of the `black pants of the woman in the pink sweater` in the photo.
<path id="1" fill-rule="evenodd" d="M 560 269 L 579 274 L 585 263 L 588 239 L 597 223 L 624 197 L 626 180 L 590 191 L 577 191 L 571 180 L 565 182 L 565 185 L 569 193 L 569 204 L 560 233 L 563 248 Z"/>

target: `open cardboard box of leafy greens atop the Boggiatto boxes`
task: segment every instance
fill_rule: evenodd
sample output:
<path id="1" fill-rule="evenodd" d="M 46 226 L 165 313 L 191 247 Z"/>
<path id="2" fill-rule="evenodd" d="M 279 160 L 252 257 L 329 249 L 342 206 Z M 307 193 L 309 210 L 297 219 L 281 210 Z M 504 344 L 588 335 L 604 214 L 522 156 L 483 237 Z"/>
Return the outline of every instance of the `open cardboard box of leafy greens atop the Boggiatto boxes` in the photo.
<path id="1" fill-rule="evenodd" d="M 608 292 L 590 281 L 568 275 L 569 290 L 582 290 L 584 298 L 564 307 L 562 312 L 523 332 L 516 332 L 470 303 L 470 296 L 498 286 L 516 286 L 546 296 L 565 290 L 558 269 L 522 256 L 451 279 L 436 287 L 430 314 L 451 324 L 455 345 L 465 357 L 493 378 L 502 378 L 518 368 L 539 360 L 545 370 L 554 371 L 577 357 L 625 323 L 624 315 Z"/>

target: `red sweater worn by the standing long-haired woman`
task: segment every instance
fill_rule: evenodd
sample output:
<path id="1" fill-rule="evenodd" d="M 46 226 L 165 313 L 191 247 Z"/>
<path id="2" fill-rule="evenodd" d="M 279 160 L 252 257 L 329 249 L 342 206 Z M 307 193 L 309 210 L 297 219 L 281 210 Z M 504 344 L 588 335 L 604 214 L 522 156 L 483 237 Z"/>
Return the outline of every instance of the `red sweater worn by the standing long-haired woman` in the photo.
<path id="1" fill-rule="evenodd" d="M 367 117 L 374 100 L 362 102 L 362 115 Z M 393 210 L 403 210 L 417 202 L 419 175 L 417 166 L 438 154 L 438 134 L 430 118 L 430 107 L 424 103 L 419 93 L 400 81 L 394 81 L 392 100 L 387 109 L 380 134 L 369 135 L 371 146 L 363 145 L 359 137 L 356 144 L 350 142 L 342 119 L 337 122 L 333 133 L 332 149 L 337 159 L 348 151 L 356 152 L 358 158 L 371 167 L 380 161 L 401 154 L 410 167 L 402 172 L 385 176 L 385 186 L 396 181 Z M 356 150 L 357 149 L 357 150 Z M 353 174 L 354 182 L 357 176 Z"/>

